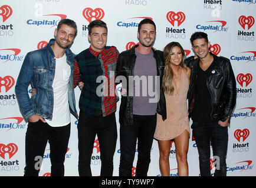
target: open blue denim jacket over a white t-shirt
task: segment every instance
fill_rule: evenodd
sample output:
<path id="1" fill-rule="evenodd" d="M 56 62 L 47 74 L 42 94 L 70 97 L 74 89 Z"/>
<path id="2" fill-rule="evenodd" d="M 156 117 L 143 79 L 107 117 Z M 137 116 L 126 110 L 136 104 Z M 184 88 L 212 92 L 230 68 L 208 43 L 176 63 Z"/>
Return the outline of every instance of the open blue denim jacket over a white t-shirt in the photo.
<path id="1" fill-rule="evenodd" d="M 45 48 L 28 52 L 21 66 L 15 86 L 15 93 L 19 109 L 25 119 L 35 114 L 40 115 L 44 119 L 52 119 L 54 105 L 52 82 L 55 74 L 55 59 L 51 45 L 54 42 L 55 39 L 51 39 Z M 78 118 L 73 86 L 74 57 L 76 55 L 70 49 L 66 49 L 65 54 L 67 56 L 67 63 L 71 68 L 68 84 L 68 103 L 70 105 L 70 112 Z M 37 90 L 31 98 L 28 96 L 29 84 Z"/>

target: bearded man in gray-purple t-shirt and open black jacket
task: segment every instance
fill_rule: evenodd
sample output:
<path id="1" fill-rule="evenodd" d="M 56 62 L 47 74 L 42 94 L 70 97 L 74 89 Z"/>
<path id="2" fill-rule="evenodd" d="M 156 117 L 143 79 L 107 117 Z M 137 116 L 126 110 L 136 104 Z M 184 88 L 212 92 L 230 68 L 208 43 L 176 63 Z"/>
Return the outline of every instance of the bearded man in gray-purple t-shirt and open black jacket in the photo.
<path id="1" fill-rule="evenodd" d="M 150 150 L 156 128 L 156 113 L 166 119 L 166 103 L 162 88 L 165 62 L 163 52 L 152 49 L 155 36 L 155 23 L 150 19 L 143 19 L 137 32 L 139 45 L 120 53 L 117 60 L 117 79 L 123 78 L 122 86 L 127 90 L 126 95 L 122 96 L 119 110 L 121 151 L 119 176 L 132 176 L 136 143 L 138 152 L 136 176 L 147 176 Z M 140 96 L 136 95 L 136 86 L 134 86 L 136 83 L 131 84 L 131 82 L 134 83 L 134 79 L 130 79 L 133 76 L 134 78 L 135 76 L 139 76 L 139 78 L 144 76 L 148 79 L 147 92 L 152 87 L 149 85 L 149 76 L 159 79 L 159 82 L 153 83 L 152 87 L 155 88 L 157 93 L 155 102 L 148 102 L 152 96 L 148 94 L 147 96 L 141 95 L 145 92 L 143 86 L 140 86 Z M 129 84 L 124 84 L 124 80 L 126 80 L 126 83 L 130 81 Z M 158 86 L 158 88 L 154 86 Z"/>

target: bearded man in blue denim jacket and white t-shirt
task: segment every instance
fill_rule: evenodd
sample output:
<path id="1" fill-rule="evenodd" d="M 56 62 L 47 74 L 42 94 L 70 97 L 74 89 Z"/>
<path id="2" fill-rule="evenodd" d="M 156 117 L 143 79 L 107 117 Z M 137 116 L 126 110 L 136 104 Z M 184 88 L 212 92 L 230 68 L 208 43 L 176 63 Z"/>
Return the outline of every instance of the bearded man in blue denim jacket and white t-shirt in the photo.
<path id="1" fill-rule="evenodd" d="M 28 119 L 25 137 L 24 176 L 38 176 L 47 141 L 50 143 L 51 176 L 64 176 L 70 137 L 70 113 L 78 118 L 73 88 L 76 22 L 63 19 L 45 48 L 27 53 L 15 92 L 21 113 Z M 36 93 L 28 96 L 31 84 Z"/>

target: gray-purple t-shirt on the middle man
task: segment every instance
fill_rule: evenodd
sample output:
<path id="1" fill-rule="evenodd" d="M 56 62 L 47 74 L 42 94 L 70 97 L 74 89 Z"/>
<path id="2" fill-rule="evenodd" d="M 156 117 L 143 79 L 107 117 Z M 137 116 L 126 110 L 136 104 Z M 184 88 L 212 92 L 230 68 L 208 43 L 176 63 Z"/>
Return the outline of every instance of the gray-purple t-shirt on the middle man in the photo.
<path id="1" fill-rule="evenodd" d="M 150 99 L 155 98 L 156 92 L 156 59 L 153 51 L 149 54 L 141 54 L 135 49 L 136 62 L 134 65 L 133 78 L 133 114 L 155 115 L 157 102 Z"/>

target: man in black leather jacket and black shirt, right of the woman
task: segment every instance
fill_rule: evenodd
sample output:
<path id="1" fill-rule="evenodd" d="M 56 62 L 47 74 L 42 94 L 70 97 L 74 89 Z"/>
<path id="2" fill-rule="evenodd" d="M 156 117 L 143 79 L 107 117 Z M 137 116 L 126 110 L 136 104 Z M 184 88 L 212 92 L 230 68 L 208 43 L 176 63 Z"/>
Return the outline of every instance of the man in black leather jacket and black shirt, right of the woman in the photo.
<path id="1" fill-rule="evenodd" d="M 191 36 L 195 55 L 185 60 L 191 68 L 188 92 L 189 117 L 199 153 L 201 176 L 211 176 L 210 142 L 215 160 L 215 176 L 227 175 L 228 122 L 236 103 L 236 81 L 229 59 L 209 52 L 204 32 Z"/>

